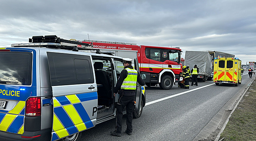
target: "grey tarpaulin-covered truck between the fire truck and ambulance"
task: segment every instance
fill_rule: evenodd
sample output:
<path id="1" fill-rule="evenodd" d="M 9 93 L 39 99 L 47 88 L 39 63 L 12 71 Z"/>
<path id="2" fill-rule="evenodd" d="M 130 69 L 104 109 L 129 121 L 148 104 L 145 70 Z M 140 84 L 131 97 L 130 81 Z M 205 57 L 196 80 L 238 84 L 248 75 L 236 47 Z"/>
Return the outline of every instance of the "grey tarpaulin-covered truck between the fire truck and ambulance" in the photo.
<path id="1" fill-rule="evenodd" d="M 197 78 L 203 81 L 206 81 L 212 73 L 212 59 L 208 51 L 186 51 L 184 65 L 190 66 L 190 69 L 197 65 L 199 68 Z"/>

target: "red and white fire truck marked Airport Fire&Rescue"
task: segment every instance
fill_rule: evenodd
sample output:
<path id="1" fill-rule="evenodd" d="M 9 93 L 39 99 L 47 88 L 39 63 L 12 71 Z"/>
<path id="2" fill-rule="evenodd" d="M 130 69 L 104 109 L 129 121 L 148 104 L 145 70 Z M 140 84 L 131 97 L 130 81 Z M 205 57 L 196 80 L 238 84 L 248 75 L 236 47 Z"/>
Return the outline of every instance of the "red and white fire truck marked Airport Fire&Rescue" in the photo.
<path id="1" fill-rule="evenodd" d="M 167 90 L 178 84 L 182 72 L 181 49 L 179 47 L 144 46 L 124 42 L 105 42 L 83 40 L 79 42 L 93 43 L 93 48 L 109 52 L 119 57 L 138 58 L 141 78 L 147 86 L 159 84 Z M 78 46 L 79 47 L 79 46 Z M 119 66 L 123 68 L 123 66 Z"/>

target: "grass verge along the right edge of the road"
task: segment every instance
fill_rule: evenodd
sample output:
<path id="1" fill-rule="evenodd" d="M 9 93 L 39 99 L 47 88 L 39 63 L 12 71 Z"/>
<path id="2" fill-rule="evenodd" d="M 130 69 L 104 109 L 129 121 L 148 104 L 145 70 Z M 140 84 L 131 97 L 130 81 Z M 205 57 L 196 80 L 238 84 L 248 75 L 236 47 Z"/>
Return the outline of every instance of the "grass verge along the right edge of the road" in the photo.
<path id="1" fill-rule="evenodd" d="M 252 82 L 232 113 L 219 139 L 223 139 L 221 141 L 256 140 L 256 80 Z"/>

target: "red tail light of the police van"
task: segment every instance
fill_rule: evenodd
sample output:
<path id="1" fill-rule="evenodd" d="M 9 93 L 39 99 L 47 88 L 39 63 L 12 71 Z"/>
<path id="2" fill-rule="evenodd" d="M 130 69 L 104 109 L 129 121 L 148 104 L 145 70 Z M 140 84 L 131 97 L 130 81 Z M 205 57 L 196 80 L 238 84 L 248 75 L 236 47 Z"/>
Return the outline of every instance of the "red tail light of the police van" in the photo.
<path id="1" fill-rule="evenodd" d="M 30 97 L 26 101 L 26 116 L 41 116 L 41 98 Z"/>

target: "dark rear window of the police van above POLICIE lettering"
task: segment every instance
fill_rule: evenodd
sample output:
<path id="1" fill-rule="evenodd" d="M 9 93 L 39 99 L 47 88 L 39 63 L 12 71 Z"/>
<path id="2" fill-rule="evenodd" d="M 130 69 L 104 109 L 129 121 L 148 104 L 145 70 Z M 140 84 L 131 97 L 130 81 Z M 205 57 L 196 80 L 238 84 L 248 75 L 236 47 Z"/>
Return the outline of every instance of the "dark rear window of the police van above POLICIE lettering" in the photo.
<path id="1" fill-rule="evenodd" d="M 31 85 L 32 53 L 0 52 L 0 84 Z"/>

